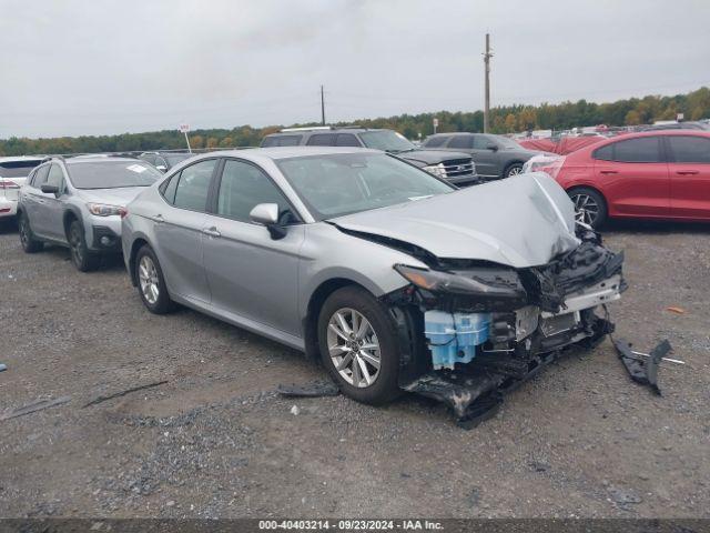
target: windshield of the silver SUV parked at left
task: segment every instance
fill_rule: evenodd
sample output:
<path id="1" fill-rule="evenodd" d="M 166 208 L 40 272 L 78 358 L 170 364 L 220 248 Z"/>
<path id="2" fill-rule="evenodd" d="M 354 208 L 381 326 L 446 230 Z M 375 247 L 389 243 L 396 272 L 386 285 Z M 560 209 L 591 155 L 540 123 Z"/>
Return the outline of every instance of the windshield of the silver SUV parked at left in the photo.
<path id="1" fill-rule="evenodd" d="M 149 187 L 163 174 L 143 161 L 67 162 L 77 189 L 119 189 Z"/>

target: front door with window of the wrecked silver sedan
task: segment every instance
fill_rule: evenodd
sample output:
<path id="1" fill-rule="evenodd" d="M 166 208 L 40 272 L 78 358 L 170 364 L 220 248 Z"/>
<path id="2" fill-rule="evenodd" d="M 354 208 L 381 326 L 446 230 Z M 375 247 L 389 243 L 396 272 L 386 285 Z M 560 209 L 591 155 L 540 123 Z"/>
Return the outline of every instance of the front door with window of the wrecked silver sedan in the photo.
<path id="1" fill-rule="evenodd" d="M 250 220 L 260 203 L 276 203 L 286 235 L 272 239 Z M 301 336 L 298 252 L 304 224 L 271 178 L 255 164 L 224 162 L 212 213 L 205 219 L 204 266 L 212 304 L 243 319 Z M 288 214 L 292 213 L 292 214 Z"/>

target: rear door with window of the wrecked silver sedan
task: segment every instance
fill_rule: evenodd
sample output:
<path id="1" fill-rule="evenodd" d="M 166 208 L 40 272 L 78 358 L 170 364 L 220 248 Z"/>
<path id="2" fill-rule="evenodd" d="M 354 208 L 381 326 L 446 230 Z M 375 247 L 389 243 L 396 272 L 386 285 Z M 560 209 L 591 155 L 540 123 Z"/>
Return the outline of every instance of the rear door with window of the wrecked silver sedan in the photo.
<path id="1" fill-rule="evenodd" d="M 154 222 L 155 249 L 165 282 L 172 293 L 209 303 L 204 275 L 202 230 L 207 194 L 217 159 L 201 160 L 185 167 L 161 185 L 165 204 L 149 213 Z"/>

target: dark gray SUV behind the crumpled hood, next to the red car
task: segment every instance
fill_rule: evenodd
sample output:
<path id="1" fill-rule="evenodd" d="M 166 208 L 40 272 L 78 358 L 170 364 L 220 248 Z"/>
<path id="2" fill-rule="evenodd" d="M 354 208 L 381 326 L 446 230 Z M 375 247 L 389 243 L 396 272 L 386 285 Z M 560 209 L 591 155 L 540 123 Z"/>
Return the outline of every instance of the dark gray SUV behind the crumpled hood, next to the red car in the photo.
<path id="1" fill-rule="evenodd" d="M 474 158 L 478 175 L 497 180 L 523 173 L 523 164 L 541 152 L 527 150 L 513 139 L 488 133 L 437 133 L 423 143 L 427 150 L 456 150 Z"/>

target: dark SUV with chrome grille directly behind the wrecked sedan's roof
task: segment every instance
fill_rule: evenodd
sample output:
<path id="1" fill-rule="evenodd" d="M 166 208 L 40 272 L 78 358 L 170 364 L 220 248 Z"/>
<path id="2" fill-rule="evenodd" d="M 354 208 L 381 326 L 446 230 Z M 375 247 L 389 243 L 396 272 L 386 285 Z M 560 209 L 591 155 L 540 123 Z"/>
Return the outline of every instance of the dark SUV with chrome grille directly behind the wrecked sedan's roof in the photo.
<path id="1" fill-rule="evenodd" d="M 264 137 L 270 147 L 361 147 L 384 150 L 455 185 L 478 183 L 476 165 L 467 153 L 420 150 L 393 130 L 368 128 L 285 128 Z"/>

